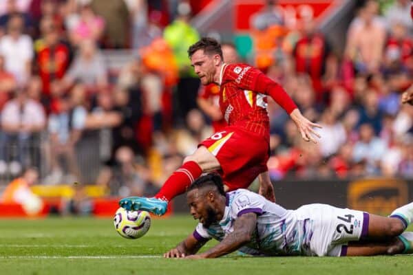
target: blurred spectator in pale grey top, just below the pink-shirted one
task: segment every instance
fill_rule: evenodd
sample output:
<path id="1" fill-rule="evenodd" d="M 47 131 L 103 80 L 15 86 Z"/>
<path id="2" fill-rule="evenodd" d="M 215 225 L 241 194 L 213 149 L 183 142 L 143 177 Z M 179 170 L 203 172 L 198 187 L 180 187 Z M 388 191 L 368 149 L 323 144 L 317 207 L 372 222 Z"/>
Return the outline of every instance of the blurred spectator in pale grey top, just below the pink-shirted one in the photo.
<path id="1" fill-rule="evenodd" d="M 108 84 L 107 67 L 103 56 L 92 40 L 83 40 L 63 81 L 66 87 L 82 83 L 92 92 Z"/>

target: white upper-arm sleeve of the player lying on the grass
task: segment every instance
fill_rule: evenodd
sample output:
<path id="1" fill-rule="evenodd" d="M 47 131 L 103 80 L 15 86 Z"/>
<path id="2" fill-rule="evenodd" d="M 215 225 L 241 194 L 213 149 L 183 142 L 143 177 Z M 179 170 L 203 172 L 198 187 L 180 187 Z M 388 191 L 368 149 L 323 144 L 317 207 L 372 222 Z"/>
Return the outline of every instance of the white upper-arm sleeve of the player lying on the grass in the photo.
<path id="1" fill-rule="evenodd" d="M 264 212 L 264 204 L 264 197 L 253 192 L 240 192 L 231 202 L 231 212 L 237 217 L 251 212 L 261 215 Z"/>

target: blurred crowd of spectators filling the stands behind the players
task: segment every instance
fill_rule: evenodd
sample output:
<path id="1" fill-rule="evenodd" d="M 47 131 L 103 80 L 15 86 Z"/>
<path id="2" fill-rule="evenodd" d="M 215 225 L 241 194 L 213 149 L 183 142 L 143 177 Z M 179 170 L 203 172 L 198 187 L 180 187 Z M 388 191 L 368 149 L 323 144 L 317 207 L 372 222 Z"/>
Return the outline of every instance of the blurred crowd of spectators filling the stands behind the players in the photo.
<path id="1" fill-rule="evenodd" d="M 222 119 L 201 106 L 215 100 L 187 57 L 201 36 L 191 25 L 200 2 L 0 1 L 0 175 L 36 167 L 42 184 L 156 192 Z M 413 83 L 410 1 L 382 2 L 359 5 L 343 52 L 314 19 L 292 23 L 276 1 L 251 19 L 244 62 L 323 126 L 318 144 L 303 142 L 268 100 L 272 179 L 413 178 L 413 107 L 400 104 Z M 120 67 L 109 62 L 125 51 Z"/>

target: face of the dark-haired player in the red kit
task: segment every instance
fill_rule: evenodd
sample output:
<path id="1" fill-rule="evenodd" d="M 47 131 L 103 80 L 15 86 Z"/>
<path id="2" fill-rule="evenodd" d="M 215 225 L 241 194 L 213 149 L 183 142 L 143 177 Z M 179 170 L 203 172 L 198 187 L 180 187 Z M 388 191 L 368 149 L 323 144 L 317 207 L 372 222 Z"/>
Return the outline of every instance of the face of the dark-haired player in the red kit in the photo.
<path id="1" fill-rule="evenodd" d="M 220 56 L 218 54 L 204 54 L 204 50 L 198 50 L 191 56 L 191 65 L 198 74 L 202 85 L 213 83 L 216 69 L 220 64 Z"/>

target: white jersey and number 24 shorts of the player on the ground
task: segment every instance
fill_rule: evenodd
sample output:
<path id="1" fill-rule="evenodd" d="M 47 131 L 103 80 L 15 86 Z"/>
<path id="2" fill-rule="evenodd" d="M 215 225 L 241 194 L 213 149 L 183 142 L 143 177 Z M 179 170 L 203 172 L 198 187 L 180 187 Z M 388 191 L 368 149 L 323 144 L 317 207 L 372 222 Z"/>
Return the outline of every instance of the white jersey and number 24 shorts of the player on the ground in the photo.
<path id="1" fill-rule="evenodd" d="M 238 189 L 226 193 L 222 220 L 209 228 L 198 223 L 193 236 L 198 240 L 222 241 L 233 232 L 237 217 L 248 212 L 257 214 L 257 225 L 252 241 L 240 251 L 254 255 L 343 256 L 343 246 L 358 240 L 368 224 L 364 223 L 368 214 L 361 211 L 325 204 L 286 210 L 255 192 Z"/>

